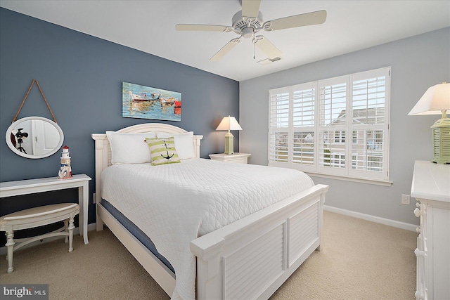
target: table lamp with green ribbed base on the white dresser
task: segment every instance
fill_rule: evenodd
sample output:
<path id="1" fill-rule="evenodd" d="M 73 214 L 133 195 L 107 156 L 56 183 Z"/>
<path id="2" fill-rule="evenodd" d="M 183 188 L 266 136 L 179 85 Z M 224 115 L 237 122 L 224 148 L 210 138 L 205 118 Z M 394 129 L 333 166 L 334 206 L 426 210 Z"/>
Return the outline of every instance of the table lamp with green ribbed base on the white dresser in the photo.
<path id="1" fill-rule="evenodd" d="M 408 115 L 441 115 L 431 126 L 433 138 L 433 159 L 437 164 L 450 163 L 450 84 L 443 82 L 431 86 L 418 100 Z"/>

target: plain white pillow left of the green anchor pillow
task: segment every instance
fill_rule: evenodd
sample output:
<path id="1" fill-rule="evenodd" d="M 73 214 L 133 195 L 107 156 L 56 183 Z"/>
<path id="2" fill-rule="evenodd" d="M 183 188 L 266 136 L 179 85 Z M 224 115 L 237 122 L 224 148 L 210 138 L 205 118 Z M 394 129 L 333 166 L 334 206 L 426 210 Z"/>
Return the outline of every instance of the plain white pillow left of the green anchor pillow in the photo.
<path id="1" fill-rule="evenodd" d="M 144 164 L 151 162 L 146 138 L 156 138 L 155 131 L 147 133 L 120 133 L 106 131 L 111 145 L 111 164 Z"/>

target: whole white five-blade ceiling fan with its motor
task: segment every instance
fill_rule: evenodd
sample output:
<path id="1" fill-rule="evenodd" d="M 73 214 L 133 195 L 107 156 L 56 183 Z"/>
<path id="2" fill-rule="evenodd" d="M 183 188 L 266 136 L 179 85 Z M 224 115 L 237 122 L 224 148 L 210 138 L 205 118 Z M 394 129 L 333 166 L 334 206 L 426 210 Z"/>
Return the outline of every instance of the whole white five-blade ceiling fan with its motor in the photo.
<path id="1" fill-rule="evenodd" d="M 266 37 L 257 35 L 259 30 L 274 31 L 293 27 L 302 27 L 309 25 L 322 24 L 326 20 L 326 11 L 314 11 L 311 13 L 302 13 L 300 15 L 291 15 L 290 17 L 279 18 L 263 22 L 262 13 L 259 11 L 261 0 L 240 0 L 242 11 L 238 11 L 231 19 L 231 26 L 224 25 L 200 25 L 200 24 L 177 24 L 176 30 L 179 31 L 217 31 L 217 32 L 235 32 L 240 37 L 231 39 L 223 46 L 212 58 L 211 61 L 221 60 L 231 49 L 240 43 L 240 39 L 252 38 L 252 42 L 262 52 L 269 56 L 269 59 L 281 56 L 281 51 L 274 46 Z M 255 50 L 254 50 L 255 51 Z M 253 55 L 255 58 L 255 53 Z M 279 58 L 278 58 L 279 59 Z"/>

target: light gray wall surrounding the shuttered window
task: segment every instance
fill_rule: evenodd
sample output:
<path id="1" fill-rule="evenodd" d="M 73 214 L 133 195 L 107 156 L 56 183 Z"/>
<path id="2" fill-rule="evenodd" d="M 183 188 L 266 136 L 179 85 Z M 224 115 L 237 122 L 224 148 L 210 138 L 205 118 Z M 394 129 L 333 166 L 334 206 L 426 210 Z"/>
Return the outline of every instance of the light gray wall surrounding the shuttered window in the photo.
<path id="1" fill-rule="evenodd" d="M 411 192 L 415 160 L 432 157 L 435 116 L 407 116 L 428 87 L 450 81 L 450 27 L 389 44 L 240 82 L 240 152 L 250 164 L 268 164 L 269 89 L 391 66 L 390 187 L 314 177 L 330 185 L 326 204 L 385 219 L 417 224 Z"/>

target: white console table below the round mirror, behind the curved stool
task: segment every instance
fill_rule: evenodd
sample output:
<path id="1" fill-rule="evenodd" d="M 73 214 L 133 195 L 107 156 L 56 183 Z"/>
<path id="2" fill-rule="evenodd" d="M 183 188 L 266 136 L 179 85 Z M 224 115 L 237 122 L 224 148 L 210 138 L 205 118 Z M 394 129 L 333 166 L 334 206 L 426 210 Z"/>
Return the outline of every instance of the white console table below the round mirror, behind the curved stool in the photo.
<path id="1" fill-rule="evenodd" d="M 89 181 L 91 177 L 85 174 L 74 175 L 72 178 L 59 179 L 58 177 L 28 179 L 23 181 L 7 181 L 0 183 L 0 198 L 27 195 L 50 190 L 63 190 L 78 188 L 79 235 L 83 236 L 84 244 L 87 240 L 87 212 L 89 208 Z"/>

